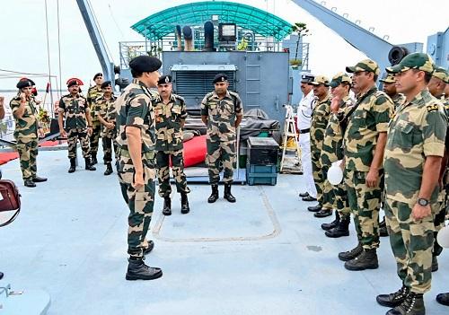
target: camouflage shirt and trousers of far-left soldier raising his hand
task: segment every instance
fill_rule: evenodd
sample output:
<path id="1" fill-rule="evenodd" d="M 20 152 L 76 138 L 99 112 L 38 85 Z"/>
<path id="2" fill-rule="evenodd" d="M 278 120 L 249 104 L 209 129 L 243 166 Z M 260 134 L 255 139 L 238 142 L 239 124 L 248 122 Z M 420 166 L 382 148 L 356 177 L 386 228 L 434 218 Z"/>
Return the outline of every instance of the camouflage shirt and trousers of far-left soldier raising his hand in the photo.
<path id="1" fill-rule="evenodd" d="M 21 98 L 14 98 L 9 106 L 13 115 L 21 105 Z M 36 178 L 36 157 L 38 156 L 38 104 L 34 98 L 26 101 L 25 111 L 22 118 L 14 116 L 15 130 L 14 138 L 17 141 L 16 148 L 21 161 L 23 180 Z"/>

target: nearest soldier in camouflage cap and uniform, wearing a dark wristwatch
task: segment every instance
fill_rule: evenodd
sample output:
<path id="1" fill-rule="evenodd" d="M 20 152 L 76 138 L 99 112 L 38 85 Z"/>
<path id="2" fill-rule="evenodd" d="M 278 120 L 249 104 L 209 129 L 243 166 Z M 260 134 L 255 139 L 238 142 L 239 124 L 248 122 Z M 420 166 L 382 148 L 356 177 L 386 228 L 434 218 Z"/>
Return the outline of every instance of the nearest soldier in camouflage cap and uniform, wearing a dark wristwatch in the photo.
<path id="1" fill-rule="evenodd" d="M 447 120 L 443 104 L 427 90 L 432 59 L 412 53 L 387 68 L 396 74 L 398 92 L 406 102 L 388 128 L 384 154 L 385 214 L 392 252 L 402 287 L 378 295 L 387 314 L 424 315 L 423 293 L 430 290 L 434 215 L 439 210 L 438 177 L 445 153 Z"/>

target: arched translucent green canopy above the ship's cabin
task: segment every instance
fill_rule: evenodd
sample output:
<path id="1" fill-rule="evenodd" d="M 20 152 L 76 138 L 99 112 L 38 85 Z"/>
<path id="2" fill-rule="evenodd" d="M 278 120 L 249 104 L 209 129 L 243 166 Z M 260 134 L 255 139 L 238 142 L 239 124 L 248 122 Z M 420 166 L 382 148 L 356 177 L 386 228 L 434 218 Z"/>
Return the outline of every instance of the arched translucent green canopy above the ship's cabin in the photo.
<path id="1" fill-rule="evenodd" d="M 290 34 L 292 28 L 290 23 L 274 14 L 250 5 L 224 1 L 174 6 L 136 22 L 131 28 L 146 39 L 158 40 L 173 33 L 176 25 L 203 25 L 211 21 L 212 15 L 218 15 L 219 22 L 235 23 L 243 29 L 265 37 L 272 36 L 279 41 Z"/>

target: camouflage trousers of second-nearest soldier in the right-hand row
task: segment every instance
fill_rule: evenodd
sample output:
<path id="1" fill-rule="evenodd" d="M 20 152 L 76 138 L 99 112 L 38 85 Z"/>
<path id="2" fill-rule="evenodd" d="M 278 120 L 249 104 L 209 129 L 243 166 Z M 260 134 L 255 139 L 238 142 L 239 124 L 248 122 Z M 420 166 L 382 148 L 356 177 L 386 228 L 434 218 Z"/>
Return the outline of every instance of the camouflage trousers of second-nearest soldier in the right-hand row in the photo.
<path id="1" fill-rule="evenodd" d="M 347 170 L 346 186 L 348 201 L 354 215 L 357 238 L 364 249 L 379 247 L 379 208 L 383 191 L 383 171 L 380 172 L 380 184 L 368 188 L 365 184 L 367 171 Z"/>

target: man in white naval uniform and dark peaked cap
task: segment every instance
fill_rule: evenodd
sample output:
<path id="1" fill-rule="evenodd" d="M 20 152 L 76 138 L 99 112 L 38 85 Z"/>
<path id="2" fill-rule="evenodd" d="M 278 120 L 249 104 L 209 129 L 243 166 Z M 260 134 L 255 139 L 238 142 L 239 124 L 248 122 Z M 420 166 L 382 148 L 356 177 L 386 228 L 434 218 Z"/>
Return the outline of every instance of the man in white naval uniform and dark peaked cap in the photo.
<path id="1" fill-rule="evenodd" d="M 316 188 L 313 181 L 312 155 L 310 149 L 310 127 L 312 126 L 312 114 L 315 106 L 315 96 L 313 95 L 313 74 L 303 74 L 301 76 L 301 91 L 304 96 L 299 102 L 297 127 L 299 129 L 299 145 L 301 146 L 301 163 L 305 179 L 305 191 L 300 193 L 304 201 L 316 200 Z"/>

